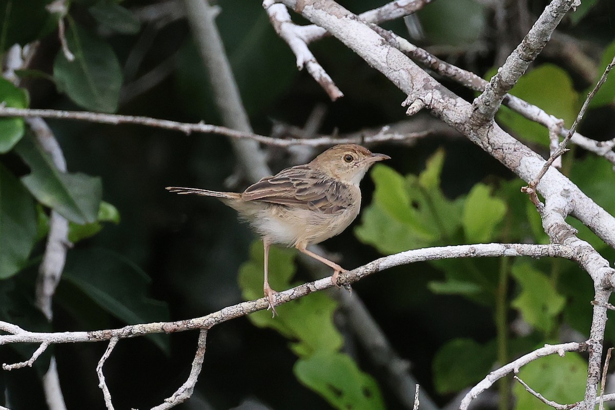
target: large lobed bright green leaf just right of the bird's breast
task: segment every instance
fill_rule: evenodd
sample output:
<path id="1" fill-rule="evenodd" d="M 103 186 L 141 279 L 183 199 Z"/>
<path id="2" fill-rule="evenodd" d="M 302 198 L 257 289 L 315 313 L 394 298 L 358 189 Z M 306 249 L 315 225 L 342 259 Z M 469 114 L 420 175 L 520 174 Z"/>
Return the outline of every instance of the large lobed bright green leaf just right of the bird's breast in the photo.
<path id="1" fill-rule="evenodd" d="M 449 200 L 440 189 L 443 158 L 437 151 L 419 176 L 403 177 L 376 165 L 371 172 L 376 191 L 362 212 L 357 237 L 382 253 L 457 242 L 463 199 Z"/>

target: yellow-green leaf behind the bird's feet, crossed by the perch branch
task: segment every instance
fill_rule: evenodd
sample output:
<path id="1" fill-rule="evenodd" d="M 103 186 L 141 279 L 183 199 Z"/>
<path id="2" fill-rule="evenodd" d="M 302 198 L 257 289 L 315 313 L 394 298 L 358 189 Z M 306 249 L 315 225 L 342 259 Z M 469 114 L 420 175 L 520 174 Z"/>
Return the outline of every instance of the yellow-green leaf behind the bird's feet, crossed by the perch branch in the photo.
<path id="1" fill-rule="evenodd" d="M 290 282 L 295 273 L 296 250 L 269 250 L 269 283 L 276 290 L 293 286 Z M 239 285 L 245 299 L 263 297 L 263 244 L 256 241 L 250 251 L 250 261 L 239 270 Z M 248 316 L 250 321 L 262 328 L 272 328 L 293 341 L 292 350 L 300 357 L 315 352 L 338 350 L 343 338 L 333 324 L 337 303 L 327 294 L 318 292 L 282 306 L 277 306 L 279 316 L 261 310 Z"/>

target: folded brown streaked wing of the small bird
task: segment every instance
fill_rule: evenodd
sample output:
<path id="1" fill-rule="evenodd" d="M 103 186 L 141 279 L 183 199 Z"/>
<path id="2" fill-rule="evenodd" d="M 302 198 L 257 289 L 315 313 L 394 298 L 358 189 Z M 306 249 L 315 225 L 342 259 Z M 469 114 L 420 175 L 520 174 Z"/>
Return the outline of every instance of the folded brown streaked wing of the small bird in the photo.
<path id="1" fill-rule="evenodd" d="M 337 214 L 351 205 L 349 191 L 345 184 L 328 178 L 307 165 L 296 165 L 249 186 L 241 194 L 241 199 Z"/>

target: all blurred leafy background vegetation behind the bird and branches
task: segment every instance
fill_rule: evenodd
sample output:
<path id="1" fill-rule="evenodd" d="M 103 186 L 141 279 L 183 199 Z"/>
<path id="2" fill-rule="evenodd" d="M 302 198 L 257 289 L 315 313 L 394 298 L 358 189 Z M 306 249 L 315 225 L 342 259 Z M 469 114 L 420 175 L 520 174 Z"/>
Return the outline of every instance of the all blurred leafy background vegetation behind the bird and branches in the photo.
<path id="1" fill-rule="evenodd" d="M 181 2 L 71 2 L 67 38 L 77 61 L 87 61 L 85 72 L 63 57 L 57 17 L 46 11 L 47 3 L 0 1 L 0 51 L 15 42 L 40 41 L 33 63 L 17 73 L 20 88 L 0 84 L 7 105 L 220 123 Z M 151 7 L 161 4 L 166 6 L 151 18 Z M 341 4 L 362 12 L 382 2 Z M 546 4 L 437 0 L 418 13 L 422 34 L 411 41 L 489 78 Z M 220 0 L 218 5 L 216 22 L 255 132 L 268 135 L 280 124 L 303 127 L 315 108 L 325 112 L 319 129 L 324 134 L 408 120 L 400 107 L 405 96 L 336 39 L 311 45 L 344 92 L 332 103 L 306 72 L 296 69 L 295 57 L 276 36 L 259 1 Z M 561 23 L 513 93 L 571 125 L 587 89 L 613 57 L 613 22 L 613 2 L 585 0 Z M 383 26 L 408 36 L 402 20 Z M 438 80 L 466 100 L 474 98 L 461 85 Z M 93 89 L 88 81 L 96 84 Z M 611 76 L 581 133 L 596 140 L 615 137 L 614 96 Z M 507 109 L 498 121 L 533 149 L 548 153 L 544 128 Z M 244 189 L 249 181 L 237 178 L 226 138 L 137 125 L 48 123 L 68 171 L 76 173 L 71 182 L 50 167 L 22 120 L 0 124 L 0 249 L 5 250 L 0 258 L 7 258 L 0 262 L 1 320 L 29 330 L 116 328 L 199 317 L 261 296 L 261 248 L 234 211 L 214 199 L 164 190 Z M 324 244 L 346 269 L 425 246 L 547 242 L 533 205 L 519 192 L 524 183 L 461 136 L 448 133 L 370 148 L 392 160 L 365 178 L 362 215 Z M 287 149 L 265 149 L 274 171 L 294 165 L 298 157 Z M 563 171 L 615 213 L 615 178 L 605 159 L 573 148 Z M 33 305 L 50 207 L 72 221 L 74 242 L 54 298 L 52 324 Z M 22 223 L 11 226 L 6 221 L 17 210 L 16 220 Z M 589 230 L 574 226 L 603 256 L 615 258 L 613 249 Z M 11 246 L 18 248 L 14 263 L 7 262 Z M 296 251 L 272 252 L 274 288 L 312 279 L 295 260 Z M 363 299 L 394 349 L 411 363 L 423 394 L 439 407 L 496 363 L 546 342 L 585 340 L 593 299 L 592 282 L 582 270 L 551 259 L 417 263 L 381 272 L 353 288 L 352 295 Z M 336 307 L 334 299 L 319 293 L 280 306 L 274 320 L 258 312 L 216 326 L 208 334 L 197 391 L 181 408 L 226 409 L 242 403 L 246 409 L 403 408 L 384 370 L 367 360 Z M 614 329 L 607 334 L 609 345 Z M 196 333 L 186 332 L 121 341 L 105 366 L 116 408 L 148 408 L 172 394 L 188 376 L 196 339 Z M 34 348 L 2 346 L 0 361 L 26 360 Z M 105 348 L 99 343 L 54 347 L 68 408 L 104 408 L 95 366 Z M 48 361 L 49 356 L 33 369 L 0 372 L 0 404 L 10 403 L 13 410 L 45 408 L 39 377 Z M 585 373 L 582 355 L 571 353 L 522 371 L 528 384 L 560 403 L 582 398 Z M 341 393 L 331 393 L 331 385 Z M 486 408 L 538 407 L 535 398 L 512 386 L 512 379 L 506 379 L 501 392 L 512 393 L 501 394 L 499 404 L 486 403 Z"/>

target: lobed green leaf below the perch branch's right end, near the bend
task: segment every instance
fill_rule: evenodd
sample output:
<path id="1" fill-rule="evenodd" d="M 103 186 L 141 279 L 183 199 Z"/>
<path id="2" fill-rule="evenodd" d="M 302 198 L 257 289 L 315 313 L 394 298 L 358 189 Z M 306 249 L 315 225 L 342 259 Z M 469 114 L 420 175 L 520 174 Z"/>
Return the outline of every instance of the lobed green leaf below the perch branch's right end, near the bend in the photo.
<path id="1" fill-rule="evenodd" d="M 555 290 L 545 274 L 529 262 L 515 264 L 511 272 L 521 288 L 521 293 L 511 306 L 518 309 L 523 319 L 534 328 L 549 334 L 555 326 L 556 316 L 565 306 L 566 298 Z"/>

